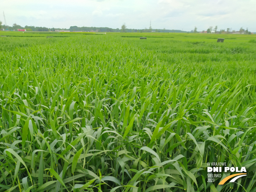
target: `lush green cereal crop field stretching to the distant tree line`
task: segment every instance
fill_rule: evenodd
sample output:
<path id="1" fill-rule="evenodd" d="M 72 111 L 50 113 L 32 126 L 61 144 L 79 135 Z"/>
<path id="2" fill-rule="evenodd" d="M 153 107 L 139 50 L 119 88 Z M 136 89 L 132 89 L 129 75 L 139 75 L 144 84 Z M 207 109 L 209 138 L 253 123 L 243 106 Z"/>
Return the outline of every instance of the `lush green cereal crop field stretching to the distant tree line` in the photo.
<path id="1" fill-rule="evenodd" d="M 256 192 L 256 36 L 33 35 L 0 37 L 0 192 Z"/>

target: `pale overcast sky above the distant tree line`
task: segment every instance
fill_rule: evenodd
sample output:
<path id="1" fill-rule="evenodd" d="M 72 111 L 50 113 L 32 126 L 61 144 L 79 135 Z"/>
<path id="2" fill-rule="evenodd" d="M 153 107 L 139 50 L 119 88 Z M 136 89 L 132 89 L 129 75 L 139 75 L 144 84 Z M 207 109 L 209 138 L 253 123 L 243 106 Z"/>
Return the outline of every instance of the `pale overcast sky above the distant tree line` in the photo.
<path id="1" fill-rule="evenodd" d="M 240 27 L 256 32 L 256 0 L 1 0 L 7 25 L 207 30 Z"/>

